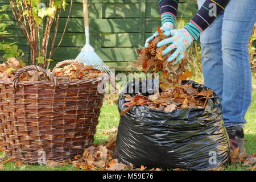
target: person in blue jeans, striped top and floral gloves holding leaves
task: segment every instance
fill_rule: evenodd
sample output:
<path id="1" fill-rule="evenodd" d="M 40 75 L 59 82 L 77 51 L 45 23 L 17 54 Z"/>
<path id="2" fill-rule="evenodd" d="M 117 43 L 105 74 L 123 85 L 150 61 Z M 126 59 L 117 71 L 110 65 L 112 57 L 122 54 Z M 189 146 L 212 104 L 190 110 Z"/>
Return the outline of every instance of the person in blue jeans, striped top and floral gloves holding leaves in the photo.
<path id="1" fill-rule="evenodd" d="M 230 150 L 245 152 L 243 129 L 251 102 L 251 71 L 247 44 L 256 19 L 255 0 L 198 0 L 199 11 L 181 29 L 174 30 L 179 0 L 159 0 L 164 34 L 158 47 L 170 44 L 168 61 L 184 58 L 186 49 L 200 36 L 205 86 L 212 88 L 222 103 L 222 114 L 230 139 Z M 155 32 L 148 41 L 154 38 Z"/>

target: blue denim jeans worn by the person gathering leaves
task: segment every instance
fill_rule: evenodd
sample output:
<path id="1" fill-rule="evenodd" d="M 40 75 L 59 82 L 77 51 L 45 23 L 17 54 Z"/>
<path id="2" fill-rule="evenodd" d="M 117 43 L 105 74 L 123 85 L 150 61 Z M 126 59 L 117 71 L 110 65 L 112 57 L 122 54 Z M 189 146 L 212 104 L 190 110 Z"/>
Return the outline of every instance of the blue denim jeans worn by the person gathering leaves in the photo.
<path id="1" fill-rule="evenodd" d="M 199 8 L 205 0 L 198 0 Z M 247 44 L 256 20 L 255 0 L 230 0 L 201 33 L 204 84 L 220 96 L 226 127 L 243 126 L 251 102 Z"/>

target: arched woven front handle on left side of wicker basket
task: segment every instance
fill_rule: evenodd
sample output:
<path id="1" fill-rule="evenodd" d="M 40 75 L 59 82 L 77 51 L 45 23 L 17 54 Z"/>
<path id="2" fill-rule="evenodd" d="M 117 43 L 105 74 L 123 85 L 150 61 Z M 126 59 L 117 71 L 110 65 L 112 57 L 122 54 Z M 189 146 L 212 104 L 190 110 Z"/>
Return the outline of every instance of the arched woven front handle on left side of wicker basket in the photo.
<path id="1" fill-rule="evenodd" d="M 27 72 L 27 71 L 32 71 L 32 70 L 36 70 L 38 72 L 43 73 L 47 78 L 49 78 L 52 82 L 54 82 L 55 86 L 58 86 L 58 82 L 56 80 L 56 78 L 52 75 L 52 73 L 46 69 L 43 69 L 41 67 L 38 67 L 36 65 L 30 65 L 24 68 L 20 68 L 14 75 L 13 78 L 13 86 L 16 89 L 17 88 L 17 84 L 19 81 L 19 77 L 22 75 L 22 73 Z"/>

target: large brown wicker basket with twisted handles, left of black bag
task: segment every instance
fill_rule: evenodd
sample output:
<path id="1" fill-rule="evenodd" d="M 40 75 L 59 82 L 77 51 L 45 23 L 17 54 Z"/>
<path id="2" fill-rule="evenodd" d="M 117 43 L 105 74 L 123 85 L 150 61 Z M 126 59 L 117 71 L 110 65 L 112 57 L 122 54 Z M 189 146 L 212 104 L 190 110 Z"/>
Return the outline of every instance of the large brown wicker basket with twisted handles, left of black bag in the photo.
<path id="1" fill-rule="evenodd" d="M 62 61 L 55 68 L 73 63 Z M 42 72 L 51 81 L 18 81 L 22 73 Z M 82 154 L 94 140 L 104 78 L 58 82 L 51 72 L 31 65 L 19 69 L 14 81 L 0 82 L 0 133 L 5 155 L 26 163 L 62 161 Z M 45 153 L 44 153 L 45 152 Z"/>

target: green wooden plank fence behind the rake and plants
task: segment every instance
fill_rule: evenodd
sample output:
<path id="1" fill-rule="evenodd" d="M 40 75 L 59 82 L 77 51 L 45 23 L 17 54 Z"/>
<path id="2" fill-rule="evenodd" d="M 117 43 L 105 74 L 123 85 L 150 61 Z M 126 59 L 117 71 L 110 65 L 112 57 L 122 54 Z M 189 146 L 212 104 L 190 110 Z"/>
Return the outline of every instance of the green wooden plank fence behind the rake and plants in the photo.
<path id="1" fill-rule="evenodd" d="M 0 0 L 0 6 L 6 3 L 7 0 Z M 180 0 L 177 26 L 188 22 L 196 10 L 196 0 Z M 6 21 L 11 24 L 11 36 L 6 40 L 18 41 L 19 48 L 25 52 L 24 59 L 28 59 L 28 43 L 11 13 L 9 15 L 10 19 Z M 60 39 L 67 16 L 68 8 L 61 14 L 57 39 Z M 136 49 L 143 46 L 144 40 L 156 31 L 159 24 L 159 7 L 156 0 L 89 0 L 90 44 L 111 68 L 126 71 L 133 69 L 130 64 L 137 59 Z M 52 65 L 57 61 L 74 59 L 84 44 L 82 0 L 73 0 L 67 33 L 53 57 L 55 63 Z"/>

